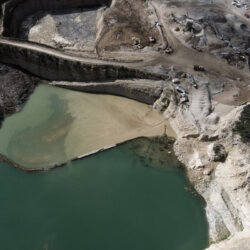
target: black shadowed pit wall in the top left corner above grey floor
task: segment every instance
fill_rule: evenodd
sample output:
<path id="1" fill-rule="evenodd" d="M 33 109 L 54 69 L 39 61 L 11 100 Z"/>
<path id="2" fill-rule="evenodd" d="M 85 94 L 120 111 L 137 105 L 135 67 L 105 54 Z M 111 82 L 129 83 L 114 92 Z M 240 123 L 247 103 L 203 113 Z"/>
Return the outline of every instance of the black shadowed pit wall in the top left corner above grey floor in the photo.
<path id="1" fill-rule="evenodd" d="M 2 3 L 2 35 L 16 37 L 21 22 L 38 11 L 109 6 L 111 0 L 12 0 Z"/>

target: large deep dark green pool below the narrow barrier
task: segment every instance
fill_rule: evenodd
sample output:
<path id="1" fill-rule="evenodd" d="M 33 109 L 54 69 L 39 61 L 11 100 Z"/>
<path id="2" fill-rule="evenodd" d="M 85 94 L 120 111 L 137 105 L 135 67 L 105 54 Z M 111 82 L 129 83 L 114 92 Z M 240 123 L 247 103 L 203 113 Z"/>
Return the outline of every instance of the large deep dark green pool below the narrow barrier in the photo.
<path id="1" fill-rule="evenodd" d="M 153 150 L 137 141 L 36 174 L 0 163 L 0 249 L 204 249 L 204 204 Z"/>

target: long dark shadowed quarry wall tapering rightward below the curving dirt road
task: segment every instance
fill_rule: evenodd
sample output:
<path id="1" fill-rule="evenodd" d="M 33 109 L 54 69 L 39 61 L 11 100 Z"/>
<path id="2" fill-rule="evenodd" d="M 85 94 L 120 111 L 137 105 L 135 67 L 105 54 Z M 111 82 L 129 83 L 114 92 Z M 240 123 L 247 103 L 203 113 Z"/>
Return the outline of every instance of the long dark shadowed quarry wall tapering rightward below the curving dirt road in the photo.
<path id="1" fill-rule="evenodd" d="M 36 49 L 34 49 L 35 47 Z M 121 65 L 74 58 L 46 47 L 2 43 L 0 61 L 14 64 L 29 73 L 50 81 L 107 81 L 125 78 L 163 79 L 167 76 L 148 73 Z"/>

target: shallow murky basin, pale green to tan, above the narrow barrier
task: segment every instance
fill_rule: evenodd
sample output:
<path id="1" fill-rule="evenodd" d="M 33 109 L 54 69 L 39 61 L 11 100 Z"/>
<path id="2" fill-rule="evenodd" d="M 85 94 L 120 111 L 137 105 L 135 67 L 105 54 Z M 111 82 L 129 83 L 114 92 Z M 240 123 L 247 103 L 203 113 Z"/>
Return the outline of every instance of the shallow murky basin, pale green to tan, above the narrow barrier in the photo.
<path id="1" fill-rule="evenodd" d="M 0 153 L 24 167 L 44 167 L 163 132 L 162 115 L 147 105 L 40 85 L 23 110 L 4 121 Z"/>

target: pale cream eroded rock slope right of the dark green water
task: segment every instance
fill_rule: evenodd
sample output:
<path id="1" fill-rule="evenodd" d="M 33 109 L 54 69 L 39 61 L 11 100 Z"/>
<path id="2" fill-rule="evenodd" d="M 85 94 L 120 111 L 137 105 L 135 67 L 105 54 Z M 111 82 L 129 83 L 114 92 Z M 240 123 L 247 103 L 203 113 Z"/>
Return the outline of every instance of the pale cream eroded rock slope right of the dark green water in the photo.
<path id="1" fill-rule="evenodd" d="M 174 149 L 206 201 L 210 242 L 230 238 L 221 248 L 212 245 L 209 249 L 247 249 L 237 246 L 246 247 L 249 241 L 250 147 L 233 132 L 243 106 L 231 107 L 219 117 L 216 112 L 220 109 L 206 112 L 207 105 L 194 116 L 192 101 L 189 107 L 181 106 L 172 98 L 165 116 L 177 134 Z M 234 239 L 235 245 L 226 248 Z"/>

